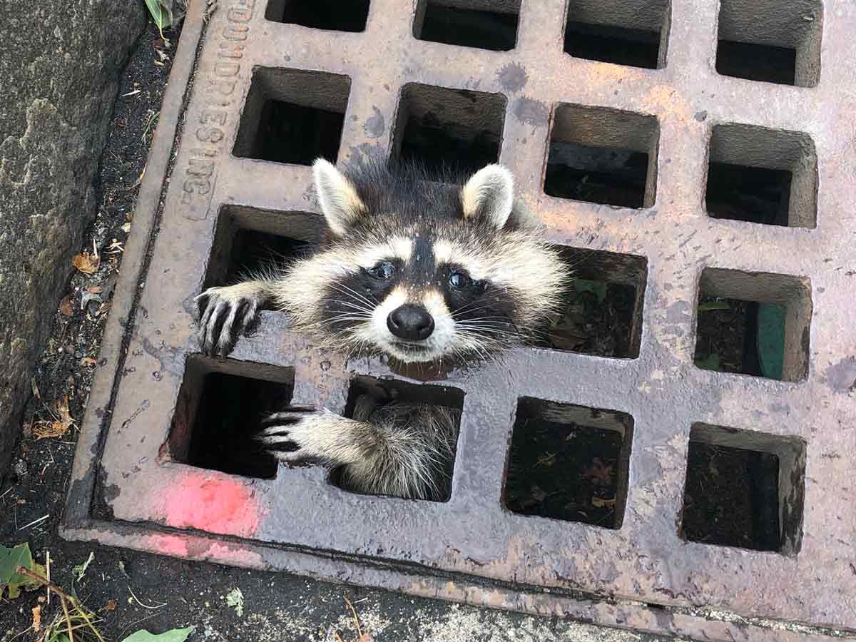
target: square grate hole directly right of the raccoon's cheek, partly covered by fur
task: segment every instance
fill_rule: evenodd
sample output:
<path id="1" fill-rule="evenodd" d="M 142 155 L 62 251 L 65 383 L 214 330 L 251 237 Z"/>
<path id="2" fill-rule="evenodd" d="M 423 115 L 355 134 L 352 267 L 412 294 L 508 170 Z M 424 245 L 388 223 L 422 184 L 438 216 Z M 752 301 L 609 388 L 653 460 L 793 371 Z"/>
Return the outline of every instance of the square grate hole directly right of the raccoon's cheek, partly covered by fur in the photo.
<path id="1" fill-rule="evenodd" d="M 574 270 L 562 312 L 537 343 L 542 348 L 594 354 L 639 356 L 648 261 L 633 254 L 563 247 Z"/>

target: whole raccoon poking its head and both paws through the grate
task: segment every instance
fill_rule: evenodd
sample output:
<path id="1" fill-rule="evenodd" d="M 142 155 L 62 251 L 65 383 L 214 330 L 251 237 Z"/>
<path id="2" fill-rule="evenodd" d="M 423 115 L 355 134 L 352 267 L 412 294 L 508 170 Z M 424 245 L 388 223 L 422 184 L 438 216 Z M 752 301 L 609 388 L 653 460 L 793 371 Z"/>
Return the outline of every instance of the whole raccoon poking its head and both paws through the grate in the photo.
<path id="1" fill-rule="evenodd" d="M 199 343 L 224 357 L 263 307 L 350 355 L 405 364 L 484 360 L 518 346 L 559 306 L 568 266 L 492 164 L 470 176 L 370 161 L 340 173 L 312 166 L 324 241 L 291 265 L 196 298 Z M 462 185 L 462 187 L 461 187 Z M 449 496 L 455 411 L 364 395 L 348 419 L 293 405 L 263 422 L 279 461 L 336 469 L 376 495 Z"/>

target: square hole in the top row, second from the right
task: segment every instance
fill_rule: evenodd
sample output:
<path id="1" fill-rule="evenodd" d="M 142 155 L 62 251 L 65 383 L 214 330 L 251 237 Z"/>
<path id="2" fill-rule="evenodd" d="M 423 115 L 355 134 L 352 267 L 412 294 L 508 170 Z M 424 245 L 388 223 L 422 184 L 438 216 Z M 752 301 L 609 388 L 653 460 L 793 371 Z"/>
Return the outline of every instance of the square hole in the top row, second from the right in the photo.
<path id="1" fill-rule="evenodd" d="M 666 66 L 669 0 L 570 0 L 565 53 L 629 67 Z"/>

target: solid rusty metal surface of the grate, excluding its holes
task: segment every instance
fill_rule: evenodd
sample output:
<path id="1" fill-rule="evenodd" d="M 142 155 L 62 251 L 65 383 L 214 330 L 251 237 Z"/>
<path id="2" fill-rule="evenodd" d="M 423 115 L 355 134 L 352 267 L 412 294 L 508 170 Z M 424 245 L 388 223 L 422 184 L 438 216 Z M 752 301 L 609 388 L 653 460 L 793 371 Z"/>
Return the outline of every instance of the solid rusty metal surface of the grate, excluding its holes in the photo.
<path id="1" fill-rule="evenodd" d="M 820 56 L 816 86 L 786 86 L 716 73 L 714 0 L 672 4 L 668 54 L 658 69 L 565 54 L 562 0 L 523 0 L 511 51 L 415 39 L 419 7 L 406 0 L 372 0 L 363 33 L 268 21 L 264 0 L 223 0 L 199 45 L 182 114 L 199 4 L 182 34 L 110 315 L 75 461 L 68 537 L 704 639 L 815 635 L 758 618 L 856 631 L 856 6 L 827 0 L 819 13 L 819 3 L 794 0 L 777 7 L 803 12 L 803 20 L 822 28 L 822 40 L 816 33 L 800 45 L 800 56 Z M 280 68 L 290 71 L 269 71 Z M 245 109 L 254 70 L 274 79 L 265 91 L 305 94 L 325 109 L 339 109 L 348 92 L 340 164 L 401 148 L 399 102 L 407 86 L 501 95 L 501 103 L 489 101 L 505 107 L 502 122 L 490 123 L 502 130 L 500 160 L 552 240 L 645 258 L 638 357 L 527 348 L 500 364 L 427 382 L 464 394 L 449 502 L 350 494 L 314 468 L 280 467 L 275 479 L 248 479 L 180 463 L 189 438 L 181 410 L 193 401 L 192 391 L 180 391 L 187 358 L 198 352 L 190 301 L 223 269 L 212 247 L 218 217 L 244 212 L 243 224 L 294 238 L 305 238 L 318 220 L 308 166 L 232 153 L 249 149 L 241 137 L 253 135 L 247 119 L 259 117 L 257 99 Z M 551 128 L 563 104 L 656 118 L 653 137 L 648 130 L 591 134 L 642 138 L 640 145 L 651 146 L 643 209 L 544 193 Z M 582 121 L 593 130 L 620 127 L 614 117 Z M 717 129 L 723 125 L 729 128 Z M 730 162 L 776 167 L 794 155 L 790 227 L 707 215 L 715 135 L 723 141 L 716 154 Z M 702 285 L 720 296 L 788 306 L 784 380 L 693 365 Z M 293 377 L 294 401 L 336 412 L 344 411 L 355 376 L 407 378 L 379 360 L 346 362 L 324 353 L 275 312 L 264 313 L 259 332 L 242 338 L 229 360 L 205 368 Z M 502 507 L 520 397 L 633 418 L 621 528 Z M 694 425 L 742 431 L 745 440 L 738 441 L 746 448 L 791 453 L 782 444 L 800 444 L 796 455 L 782 457 L 789 479 L 780 484 L 788 513 L 781 551 L 681 538 Z M 723 438 L 717 443 L 728 443 Z M 733 617 L 683 610 L 698 605 Z"/>

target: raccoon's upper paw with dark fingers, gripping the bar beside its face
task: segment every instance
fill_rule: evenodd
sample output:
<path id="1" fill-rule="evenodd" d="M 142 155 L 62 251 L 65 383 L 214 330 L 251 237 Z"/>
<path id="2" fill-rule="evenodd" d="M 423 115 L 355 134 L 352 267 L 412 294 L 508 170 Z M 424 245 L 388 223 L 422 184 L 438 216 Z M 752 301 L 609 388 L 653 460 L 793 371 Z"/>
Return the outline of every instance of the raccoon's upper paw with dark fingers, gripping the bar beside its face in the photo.
<path id="1" fill-rule="evenodd" d="M 204 354 L 227 356 L 241 333 L 253 327 L 264 304 L 259 291 L 239 283 L 208 288 L 193 303 L 199 322 L 199 345 Z"/>

